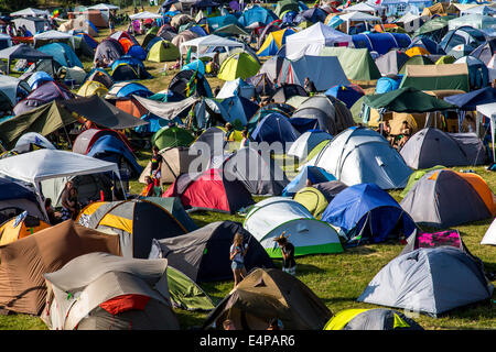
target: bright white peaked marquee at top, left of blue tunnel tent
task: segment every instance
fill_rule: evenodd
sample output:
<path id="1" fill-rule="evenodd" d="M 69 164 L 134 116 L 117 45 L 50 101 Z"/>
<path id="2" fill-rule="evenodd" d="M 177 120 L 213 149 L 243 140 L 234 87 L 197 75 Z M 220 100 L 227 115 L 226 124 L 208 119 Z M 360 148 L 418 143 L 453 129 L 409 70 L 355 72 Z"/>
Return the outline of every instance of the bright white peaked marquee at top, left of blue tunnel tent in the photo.
<path id="1" fill-rule="evenodd" d="M 289 59 L 303 55 L 319 56 L 324 46 L 334 46 L 335 43 L 353 43 L 352 36 L 317 22 L 285 38 L 285 56 Z"/>

